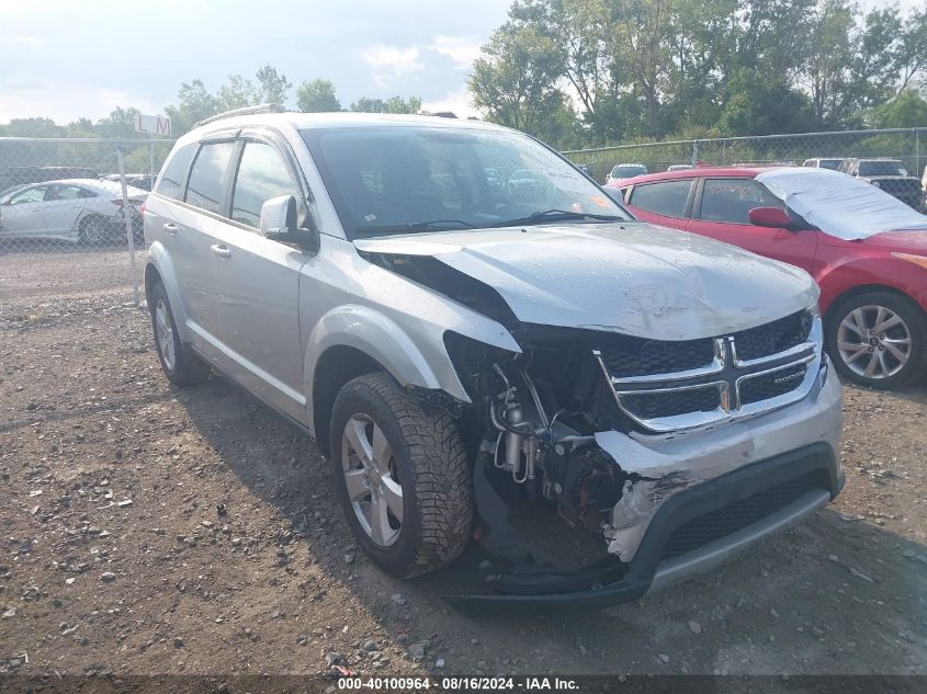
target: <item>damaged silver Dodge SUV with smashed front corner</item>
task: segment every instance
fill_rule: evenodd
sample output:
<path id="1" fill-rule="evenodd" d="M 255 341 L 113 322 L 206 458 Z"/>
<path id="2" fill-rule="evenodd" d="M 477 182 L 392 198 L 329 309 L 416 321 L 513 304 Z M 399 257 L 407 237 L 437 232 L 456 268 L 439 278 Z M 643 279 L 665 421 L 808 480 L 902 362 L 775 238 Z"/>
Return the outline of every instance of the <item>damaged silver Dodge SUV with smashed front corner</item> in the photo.
<path id="1" fill-rule="evenodd" d="M 476 538 L 497 574 L 456 605 L 598 607 L 839 492 L 803 271 L 637 221 L 515 130 L 275 111 L 200 124 L 147 201 L 158 356 L 314 437 L 385 571 Z"/>

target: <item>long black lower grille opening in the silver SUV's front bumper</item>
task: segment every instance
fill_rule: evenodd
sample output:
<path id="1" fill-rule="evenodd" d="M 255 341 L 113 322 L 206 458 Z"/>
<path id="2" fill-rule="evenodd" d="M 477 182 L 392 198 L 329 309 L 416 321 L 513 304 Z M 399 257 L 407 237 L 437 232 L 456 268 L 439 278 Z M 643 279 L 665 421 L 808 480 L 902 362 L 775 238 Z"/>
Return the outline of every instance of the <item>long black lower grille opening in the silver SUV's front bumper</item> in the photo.
<path id="1" fill-rule="evenodd" d="M 678 557 L 758 523 L 812 489 L 823 489 L 819 475 L 811 473 L 765 489 L 716 511 L 692 519 L 672 531 L 660 559 Z"/>

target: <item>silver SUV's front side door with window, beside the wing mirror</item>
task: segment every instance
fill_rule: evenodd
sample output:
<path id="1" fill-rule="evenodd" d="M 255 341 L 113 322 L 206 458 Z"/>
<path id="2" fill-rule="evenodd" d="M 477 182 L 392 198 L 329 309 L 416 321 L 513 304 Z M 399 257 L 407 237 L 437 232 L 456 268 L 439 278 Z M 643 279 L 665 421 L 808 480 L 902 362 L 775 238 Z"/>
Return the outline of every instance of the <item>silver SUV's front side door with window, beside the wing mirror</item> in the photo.
<path id="1" fill-rule="evenodd" d="M 203 314 L 214 359 L 236 380 L 297 421 L 306 418 L 299 335 L 302 251 L 265 238 L 261 206 L 303 200 L 285 143 L 245 133 L 236 150 L 228 212 L 204 235 L 212 309 Z M 195 164 L 194 164 L 195 172 Z M 192 175 L 191 175 L 192 185 Z"/>

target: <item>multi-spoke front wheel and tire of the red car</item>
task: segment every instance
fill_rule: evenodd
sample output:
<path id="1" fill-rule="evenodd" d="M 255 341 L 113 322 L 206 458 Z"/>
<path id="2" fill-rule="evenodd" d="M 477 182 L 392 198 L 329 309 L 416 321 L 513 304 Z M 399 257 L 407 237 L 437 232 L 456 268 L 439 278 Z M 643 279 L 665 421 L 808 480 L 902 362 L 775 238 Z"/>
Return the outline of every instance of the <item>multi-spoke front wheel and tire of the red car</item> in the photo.
<path id="1" fill-rule="evenodd" d="M 927 321 L 905 296 L 866 292 L 828 311 L 825 346 L 844 378 L 870 388 L 896 388 L 924 375 Z"/>

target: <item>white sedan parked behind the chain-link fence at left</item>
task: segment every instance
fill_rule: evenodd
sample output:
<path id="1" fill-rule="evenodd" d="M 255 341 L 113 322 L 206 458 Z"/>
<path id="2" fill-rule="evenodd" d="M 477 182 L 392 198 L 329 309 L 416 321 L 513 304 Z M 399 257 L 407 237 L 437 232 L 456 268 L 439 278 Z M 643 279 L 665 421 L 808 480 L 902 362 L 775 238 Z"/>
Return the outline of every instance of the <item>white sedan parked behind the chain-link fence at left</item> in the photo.
<path id="1" fill-rule="evenodd" d="M 146 191 L 128 187 L 134 237 L 143 240 L 139 206 Z M 125 240 L 122 186 L 112 181 L 68 179 L 10 189 L 0 194 L 0 239 L 55 239 L 88 246 Z"/>

